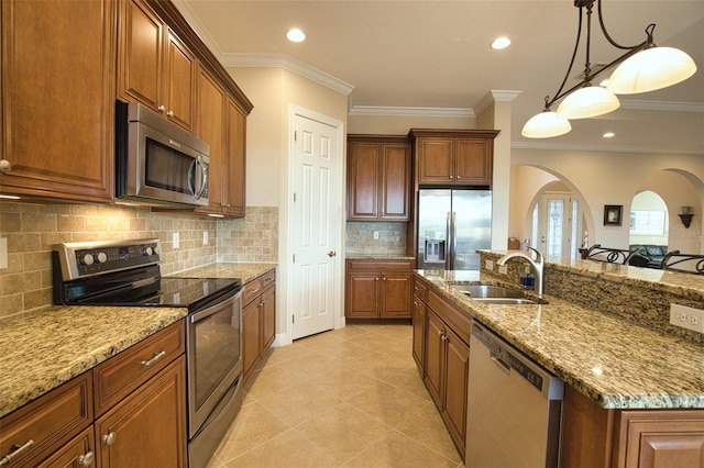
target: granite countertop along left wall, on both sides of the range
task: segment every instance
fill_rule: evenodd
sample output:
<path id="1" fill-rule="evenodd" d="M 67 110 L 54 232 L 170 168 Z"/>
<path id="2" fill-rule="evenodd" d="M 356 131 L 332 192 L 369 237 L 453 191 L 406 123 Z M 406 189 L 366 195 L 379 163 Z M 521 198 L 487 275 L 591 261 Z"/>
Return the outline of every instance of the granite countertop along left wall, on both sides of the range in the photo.
<path id="1" fill-rule="evenodd" d="M 242 278 L 276 264 L 216 264 L 172 276 Z M 0 320 L 0 416 L 188 314 L 186 308 L 48 307 Z"/>

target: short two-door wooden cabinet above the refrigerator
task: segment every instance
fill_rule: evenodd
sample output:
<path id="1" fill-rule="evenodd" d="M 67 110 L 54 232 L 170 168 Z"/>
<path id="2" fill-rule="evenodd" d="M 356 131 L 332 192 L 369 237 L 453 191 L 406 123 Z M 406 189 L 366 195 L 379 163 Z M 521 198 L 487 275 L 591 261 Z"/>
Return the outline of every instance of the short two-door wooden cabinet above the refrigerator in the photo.
<path id="1" fill-rule="evenodd" d="M 496 130 L 425 130 L 409 132 L 420 186 L 491 187 Z"/>

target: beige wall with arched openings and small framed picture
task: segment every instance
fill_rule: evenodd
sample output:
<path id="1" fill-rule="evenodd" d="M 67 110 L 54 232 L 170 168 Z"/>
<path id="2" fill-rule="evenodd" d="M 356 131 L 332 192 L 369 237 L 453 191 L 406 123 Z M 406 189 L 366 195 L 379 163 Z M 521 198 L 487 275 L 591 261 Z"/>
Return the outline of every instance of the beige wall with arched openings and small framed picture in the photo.
<path id="1" fill-rule="evenodd" d="M 549 172 L 562 180 L 583 200 L 590 232 L 590 244 L 613 247 L 629 244 L 628 214 L 632 197 L 641 190 L 658 192 L 671 212 L 670 248 L 688 253 L 704 253 L 702 243 L 702 207 L 704 205 L 704 158 L 702 155 L 663 155 L 608 152 L 517 149 L 512 151 L 512 227 L 509 235 L 522 238 L 529 234 L 528 216 L 520 207 L 536 196 L 536 183 L 524 166 Z M 683 172 L 684 175 L 681 175 Z M 532 172 L 536 174 L 535 171 Z M 539 176 L 538 176 L 539 177 Z M 605 204 L 624 205 L 622 226 L 604 226 Z M 679 207 L 694 207 L 692 226 L 685 230 L 676 213 Z"/>

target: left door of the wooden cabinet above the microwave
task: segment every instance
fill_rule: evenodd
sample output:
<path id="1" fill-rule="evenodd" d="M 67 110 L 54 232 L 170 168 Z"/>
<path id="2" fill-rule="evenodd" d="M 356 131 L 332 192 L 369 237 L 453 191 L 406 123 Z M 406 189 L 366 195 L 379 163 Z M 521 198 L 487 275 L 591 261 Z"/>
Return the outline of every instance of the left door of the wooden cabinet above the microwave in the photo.
<path id="1" fill-rule="evenodd" d="M 125 101 L 141 102 L 155 112 L 163 104 L 164 22 L 142 0 L 123 4 L 120 25 L 118 92 Z"/>

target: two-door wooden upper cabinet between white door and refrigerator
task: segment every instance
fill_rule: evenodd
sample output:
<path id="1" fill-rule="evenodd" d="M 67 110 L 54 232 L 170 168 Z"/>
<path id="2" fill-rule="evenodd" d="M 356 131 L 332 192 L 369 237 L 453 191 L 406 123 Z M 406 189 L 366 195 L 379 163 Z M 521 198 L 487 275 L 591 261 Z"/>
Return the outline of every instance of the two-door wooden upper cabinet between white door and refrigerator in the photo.
<path id="1" fill-rule="evenodd" d="M 349 135 L 348 220 L 408 221 L 410 143 L 405 136 Z"/>

